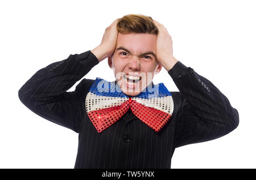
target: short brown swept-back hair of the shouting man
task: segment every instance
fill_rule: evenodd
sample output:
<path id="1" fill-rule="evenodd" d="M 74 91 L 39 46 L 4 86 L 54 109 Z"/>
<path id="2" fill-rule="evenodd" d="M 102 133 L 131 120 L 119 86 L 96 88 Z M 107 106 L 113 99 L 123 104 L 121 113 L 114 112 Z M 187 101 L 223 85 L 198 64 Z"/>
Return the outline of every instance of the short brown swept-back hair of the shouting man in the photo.
<path id="1" fill-rule="evenodd" d="M 158 28 L 150 16 L 129 14 L 117 22 L 117 31 L 120 33 L 149 33 L 158 35 Z"/>

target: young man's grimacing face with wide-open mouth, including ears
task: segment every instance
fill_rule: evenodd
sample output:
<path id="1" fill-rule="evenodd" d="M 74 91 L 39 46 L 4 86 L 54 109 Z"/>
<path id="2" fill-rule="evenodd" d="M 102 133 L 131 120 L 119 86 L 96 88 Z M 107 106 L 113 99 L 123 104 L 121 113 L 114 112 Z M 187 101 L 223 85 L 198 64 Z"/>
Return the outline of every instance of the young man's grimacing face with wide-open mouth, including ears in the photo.
<path id="1" fill-rule="evenodd" d="M 161 70 L 155 57 L 156 38 L 157 35 L 146 33 L 118 33 L 117 46 L 108 63 L 126 95 L 138 95 Z"/>

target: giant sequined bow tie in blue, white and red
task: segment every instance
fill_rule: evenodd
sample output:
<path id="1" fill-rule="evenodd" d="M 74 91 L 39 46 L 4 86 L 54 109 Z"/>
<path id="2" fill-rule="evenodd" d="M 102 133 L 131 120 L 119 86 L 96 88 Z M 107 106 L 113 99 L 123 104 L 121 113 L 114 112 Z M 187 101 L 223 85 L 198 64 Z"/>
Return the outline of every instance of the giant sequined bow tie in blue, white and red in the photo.
<path id="1" fill-rule="evenodd" d="M 152 85 L 149 91 L 137 96 L 127 96 L 115 82 L 96 78 L 86 95 L 86 112 L 98 132 L 117 122 L 126 112 L 131 112 L 147 126 L 158 132 L 171 118 L 174 101 L 163 83 Z"/>

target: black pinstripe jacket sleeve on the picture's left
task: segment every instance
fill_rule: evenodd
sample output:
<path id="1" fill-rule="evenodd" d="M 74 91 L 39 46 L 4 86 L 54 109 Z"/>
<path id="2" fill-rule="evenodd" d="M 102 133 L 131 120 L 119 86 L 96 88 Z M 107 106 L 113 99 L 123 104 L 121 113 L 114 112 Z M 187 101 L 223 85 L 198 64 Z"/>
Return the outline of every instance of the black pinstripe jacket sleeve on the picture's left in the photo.
<path id="1" fill-rule="evenodd" d="M 85 88 L 90 88 L 92 80 L 83 79 L 75 91 L 67 90 L 98 63 L 97 57 L 90 50 L 51 63 L 27 80 L 19 89 L 19 99 L 40 117 L 79 132 L 82 93 Z"/>

